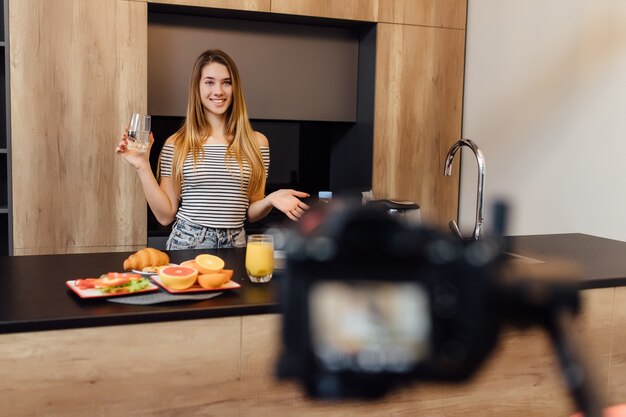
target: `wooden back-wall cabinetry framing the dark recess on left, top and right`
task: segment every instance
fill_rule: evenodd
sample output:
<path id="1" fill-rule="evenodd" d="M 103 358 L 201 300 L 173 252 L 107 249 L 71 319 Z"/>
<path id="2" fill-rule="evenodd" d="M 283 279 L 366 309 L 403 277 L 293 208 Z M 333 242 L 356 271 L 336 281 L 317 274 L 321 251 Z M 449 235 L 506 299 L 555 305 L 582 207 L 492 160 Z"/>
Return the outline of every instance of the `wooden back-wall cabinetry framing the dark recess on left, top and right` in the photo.
<path id="1" fill-rule="evenodd" d="M 130 113 L 147 110 L 152 1 L 11 2 L 13 148 L 0 144 L 0 242 L 12 228 L 14 254 L 146 245 L 145 197 L 114 148 Z M 458 176 L 442 170 L 461 131 L 466 1 L 164 2 L 396 22 L 377 28 L 372 188 L 418 202 L 427 221 L 456 217 Z"/>

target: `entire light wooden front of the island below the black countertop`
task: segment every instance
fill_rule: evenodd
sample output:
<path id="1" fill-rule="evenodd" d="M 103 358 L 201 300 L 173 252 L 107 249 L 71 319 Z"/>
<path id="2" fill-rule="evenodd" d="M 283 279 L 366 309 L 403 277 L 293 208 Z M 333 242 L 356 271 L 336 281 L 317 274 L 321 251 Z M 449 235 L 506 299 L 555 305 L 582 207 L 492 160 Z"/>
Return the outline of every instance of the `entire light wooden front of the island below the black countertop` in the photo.
<path id="1" fill-rule="evenodd" d="M 626 314 L 619 308 L 625 295 L 624 287 L 582 292 L 578 336 L 607 404 L 626 395 Z M 275 378 L 280 320 L 252 315 L 2 334 L 0 402 L 10 416 L 98 410 L 103 417 L 554 417 L 575 411 L 539 329 L 504 329 L 468 384 L 422 381 L 376 401 L 312 401 L 294 382 Z"/>

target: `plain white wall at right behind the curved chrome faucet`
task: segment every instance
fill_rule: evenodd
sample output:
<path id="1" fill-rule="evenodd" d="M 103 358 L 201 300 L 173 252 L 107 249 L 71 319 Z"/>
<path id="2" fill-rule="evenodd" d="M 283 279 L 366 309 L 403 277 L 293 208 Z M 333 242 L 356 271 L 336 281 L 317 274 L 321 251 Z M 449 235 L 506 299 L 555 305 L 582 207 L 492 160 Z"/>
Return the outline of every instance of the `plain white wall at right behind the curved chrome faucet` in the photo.
<path id="1" fill-rule="evenodd" d="M 463 137 L 485 154 L 487 226 L 505 198 L 510 234 L 626 240 L 626 0 L 469 0 Z"/>

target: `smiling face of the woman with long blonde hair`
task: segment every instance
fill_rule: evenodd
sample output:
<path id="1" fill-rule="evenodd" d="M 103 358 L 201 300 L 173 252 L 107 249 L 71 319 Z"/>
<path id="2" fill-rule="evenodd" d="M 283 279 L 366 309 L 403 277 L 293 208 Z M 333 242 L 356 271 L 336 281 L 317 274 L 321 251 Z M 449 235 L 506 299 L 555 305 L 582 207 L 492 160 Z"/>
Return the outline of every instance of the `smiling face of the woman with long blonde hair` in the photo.
<path id="1" fill-rule="evenodd" d="M 233 102 L 233 84 L 225 65 L 211 62 L 202 68 L 200 100 L 205 113 L 222 116 Z"/>

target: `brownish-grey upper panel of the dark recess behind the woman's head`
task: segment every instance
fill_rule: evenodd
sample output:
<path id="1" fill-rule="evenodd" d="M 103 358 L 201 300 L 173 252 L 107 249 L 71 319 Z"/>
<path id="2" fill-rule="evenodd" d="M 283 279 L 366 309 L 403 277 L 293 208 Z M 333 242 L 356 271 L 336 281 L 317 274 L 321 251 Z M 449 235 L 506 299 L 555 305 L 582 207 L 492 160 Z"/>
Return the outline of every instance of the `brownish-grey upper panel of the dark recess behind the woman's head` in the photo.
<path id="1" fill-rule="evenodd" d="M 253 119 L 356 121 L 358 33 L 337 27 L 150 13 L 148 111 L 184 116 L 195 59 L 222 49 Z"/>

